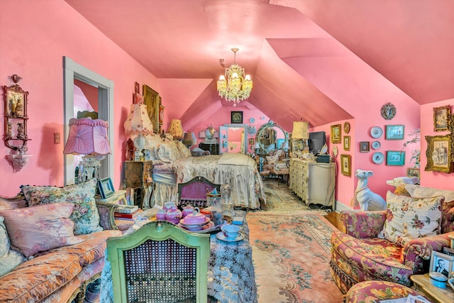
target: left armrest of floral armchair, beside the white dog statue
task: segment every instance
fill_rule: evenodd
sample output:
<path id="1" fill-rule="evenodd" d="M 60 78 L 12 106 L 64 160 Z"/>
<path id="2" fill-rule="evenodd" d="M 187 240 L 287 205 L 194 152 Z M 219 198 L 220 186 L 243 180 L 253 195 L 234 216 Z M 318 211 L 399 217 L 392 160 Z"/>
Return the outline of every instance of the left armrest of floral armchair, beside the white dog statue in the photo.
<path id="1" fill-rule="evenodd" d="M 386 211 L 341 211 L 345 233 L 355 238 L 375 238 L 382 231 Z"/>

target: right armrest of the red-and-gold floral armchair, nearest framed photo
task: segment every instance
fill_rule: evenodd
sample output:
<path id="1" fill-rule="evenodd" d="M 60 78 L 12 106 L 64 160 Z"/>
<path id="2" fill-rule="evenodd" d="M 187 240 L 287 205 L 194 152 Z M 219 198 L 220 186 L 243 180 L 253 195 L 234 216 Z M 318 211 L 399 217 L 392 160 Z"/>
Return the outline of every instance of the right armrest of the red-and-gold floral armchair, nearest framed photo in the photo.
<path id="1" fill-rule="evenodd" d="M 402 260 L 404 263 L 414 262 L 416 257 L 429 260 L 432 250 L 441 251 L 443 247 L 450 247 L 449 235 L 454 235 L 454 231 L 408 241 L 402 250 Z"/>

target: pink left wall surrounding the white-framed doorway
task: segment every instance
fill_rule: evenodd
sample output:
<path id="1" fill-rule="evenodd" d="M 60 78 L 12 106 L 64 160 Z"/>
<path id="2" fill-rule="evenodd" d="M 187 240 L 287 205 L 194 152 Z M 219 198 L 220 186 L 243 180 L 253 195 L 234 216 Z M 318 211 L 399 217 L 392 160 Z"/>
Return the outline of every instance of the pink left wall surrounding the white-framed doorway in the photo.
<path id="1" fill-rule="evenodd" d="M 114 121 L 109 127 L 116 134 L 111 142 L 116 166 L 111 177 L 119 189 L 126 141 L 123 123 L 134 82 L 159 91 L 157 79 L 65 1 L 1 1 L 0 28 L 0 84 L 11 86 L 13 74 L 23 77 L 19 85 L 29 92 L 28 153 L 33 155 L 13 173 L 4 158 L 10 150 L 0 145 L 0 194 L 15 195 L 21 184 L 63 185 L 63 139 L 53 143 L 53 133 L 63 133 L 63 56 L 114 82 Z M 0 108 L 3 117 L 4 106 Z"/>

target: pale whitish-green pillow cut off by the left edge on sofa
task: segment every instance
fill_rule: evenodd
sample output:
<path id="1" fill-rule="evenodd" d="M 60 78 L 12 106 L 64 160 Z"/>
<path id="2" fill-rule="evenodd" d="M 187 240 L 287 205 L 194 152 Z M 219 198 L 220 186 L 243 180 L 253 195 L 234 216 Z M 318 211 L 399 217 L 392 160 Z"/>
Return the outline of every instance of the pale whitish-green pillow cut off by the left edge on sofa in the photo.
<path id="1" fill-rule="evenodd" d="M 17 265 L 23 263 L 26 259 L 16 250 L 10 249 L 10 241 L 4 217 L 0 216 L 0 277 L 16 268 Z"/>

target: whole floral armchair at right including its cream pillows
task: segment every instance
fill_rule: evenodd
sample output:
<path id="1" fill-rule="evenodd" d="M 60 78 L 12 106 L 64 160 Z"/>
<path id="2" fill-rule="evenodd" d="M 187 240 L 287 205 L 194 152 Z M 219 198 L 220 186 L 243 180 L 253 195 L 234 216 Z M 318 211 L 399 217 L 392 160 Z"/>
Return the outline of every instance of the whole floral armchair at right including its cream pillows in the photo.
<path id="1" fill-rule="evenodd" d="M 345 233 L 331 236 L 330 265 L 344 294 L 368 280 L 410 286 L 411 275 L 428 272 L 431 251 L 450 246 L 454 191 L 404 184 L 395 192 L 386 211 L 341 212 Z"/>

